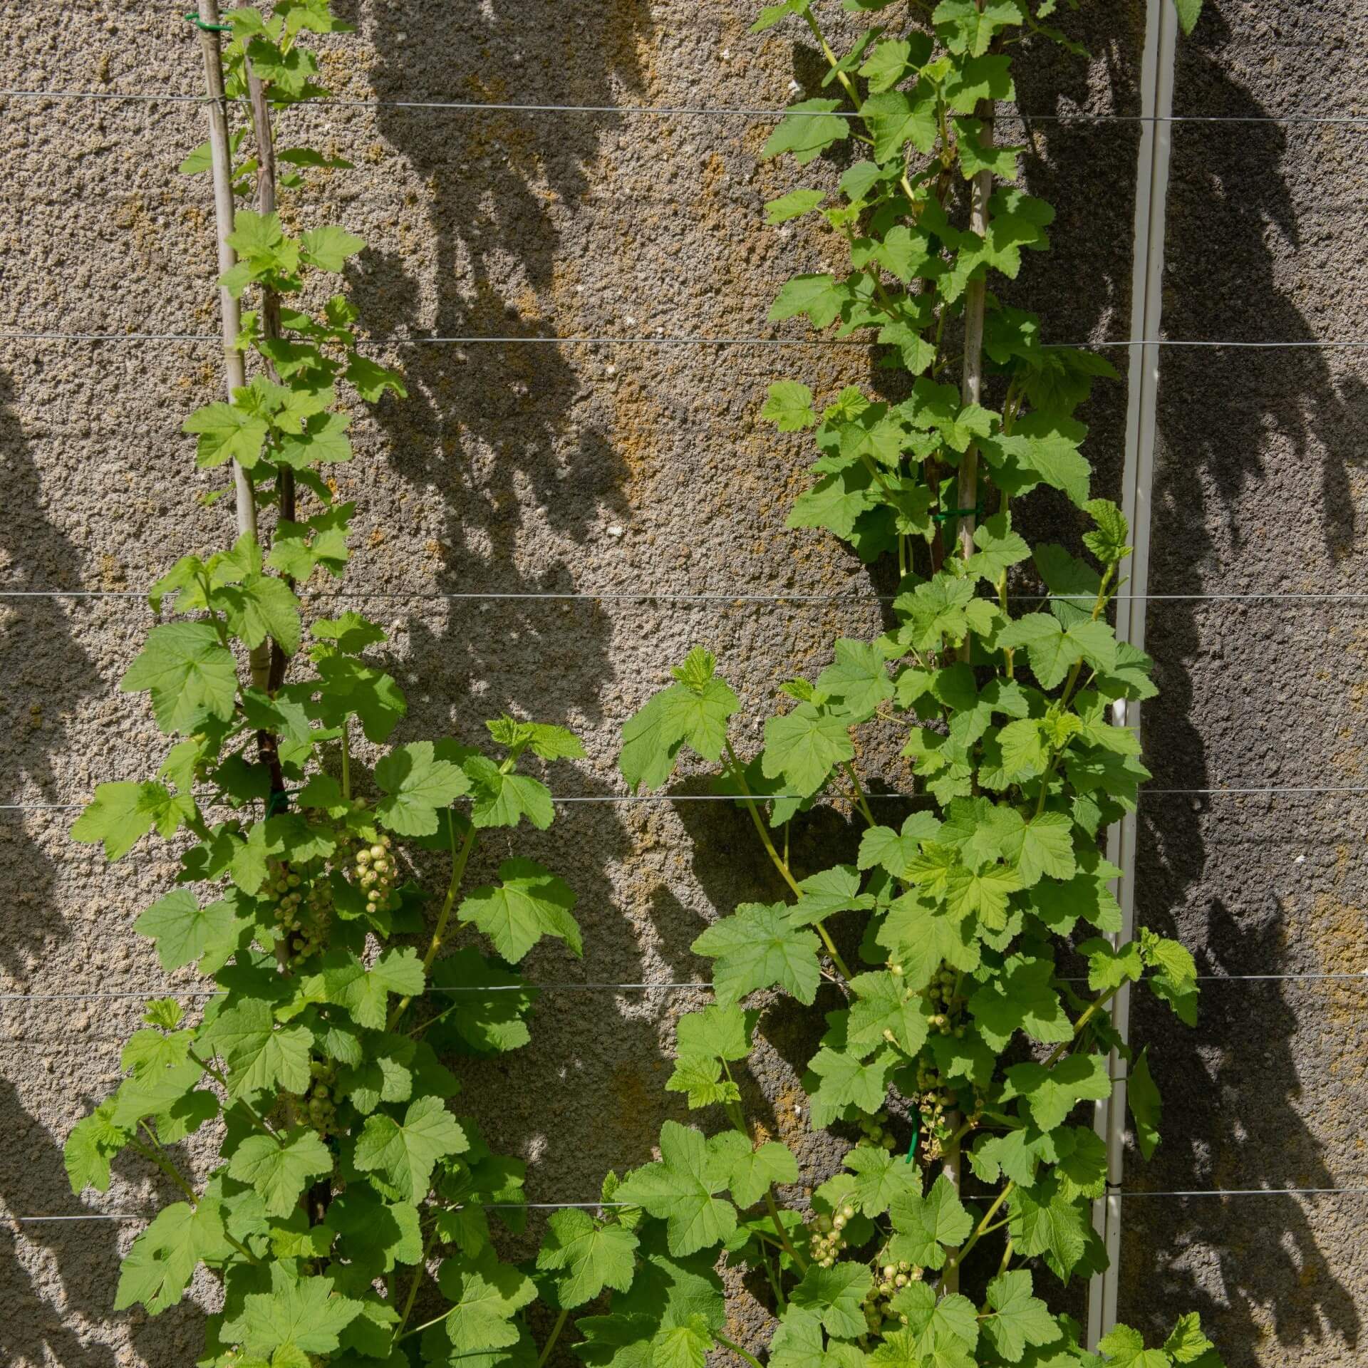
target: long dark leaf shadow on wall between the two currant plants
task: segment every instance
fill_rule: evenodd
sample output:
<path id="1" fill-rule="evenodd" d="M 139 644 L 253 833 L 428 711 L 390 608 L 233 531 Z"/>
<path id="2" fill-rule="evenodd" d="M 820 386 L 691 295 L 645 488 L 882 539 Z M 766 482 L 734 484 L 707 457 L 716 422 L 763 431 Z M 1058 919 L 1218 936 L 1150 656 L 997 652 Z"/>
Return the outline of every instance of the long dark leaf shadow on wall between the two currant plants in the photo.
<path id="1" fill-rule="evenodd" d="M 363 26 L 382 101 L 613 104 L 617 90 L 643 88 L 637 49 L 650 33 L 646 0 L 599 0 L 554 22 L 525 0 L 401 0 Z M 628 465 L 587 368 L 602 371 L 602 357 L 538 341 L 423 341 L 581 331 L 572 282 L 610 263 L 581 261 L 581 239 L 566 230 L 621 127 L 614 115 L 378 112 L 378 133 L 425 185 L 430 260 L 371 252 L 354 283 L 369 327 L 412 339 L 398 354 L 410 397 L 382 405 L 379 421 L 393 469 L 440 505 L 438 591 L 575 592 L 594 568 L 601 524 L 625 517 Z M 622 614 L 628 629 L 639 627 L 633 611 L 505 598 L 456 602 L 435 618 L 415 614 L 413 679 L 405 680 L 413 733 L 434 735 L 435 725 L 440 735 L 454 714 L 458 735 L 483 739 L 483 720 L 503 709 L 616 726 L 603 699 L 617 679 Z M 611 787 L 570 765 L 555 766 L 550 782 L 557 793 L 588 798 Z M 471 885 L 517 854 L 561 874 L 579 899 L 584 960 L 547 943 L 520 966 L 534 981 L 644 979 L 642 945 L 607 873 L 632 852 L 637 815 L 617 804 L 566 804 L 546 834 L 525 825 L 488 834 Z M 486 1137 L 531 1160 L 531 1200 L 591 1200 L 606 1170 L 651 1157 L 672 1101 L 662 1092 L 663 1003 L 631 992 L 547 992 L 528 1047 L 461 1063 Z M 534 1213 L 532 1233 L 543 1215 Z M 525 1253 L 525 1241 L 512 1244 Z"/>

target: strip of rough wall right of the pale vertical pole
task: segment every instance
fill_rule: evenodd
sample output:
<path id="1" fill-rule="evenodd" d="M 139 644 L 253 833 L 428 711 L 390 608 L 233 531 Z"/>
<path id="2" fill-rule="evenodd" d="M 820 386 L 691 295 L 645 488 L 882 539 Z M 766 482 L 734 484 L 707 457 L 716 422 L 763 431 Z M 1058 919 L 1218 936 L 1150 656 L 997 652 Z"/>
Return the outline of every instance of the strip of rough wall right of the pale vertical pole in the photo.
<path id="1" fill-rule="evenodd" d="M 1179 49 L 1175 112 L 1363 116 L 1365 36 L 1358 0 L 1220 3 Z M 1361 342 L 1365 150 L 1353 124 L 1178 124 L 1167 337 Z M 1166 352 L 1150 591 L 1361 588 L 1365 419 L 1363 352 Z M 1145 720 L 1153 788 L 1368 784 L 1368 605 L 1160 602 L 1148 647 L 1163 689 Z M 1204 974 L 1360 973 L 1365 818 L 1356 793 L 1155 793 L 1141 804 L 1140 915 L 1181 934 Z M 1368 1186 L 1368 982 L 1205 986 L 1196 1033 L 1137 1012 L 1168 1114 L 1127 1186 Z M 1197 1305 L 1231 1364 L 1361 1364 L 1365 1202 L 1134 1198 L 1122 1312 Z"/>

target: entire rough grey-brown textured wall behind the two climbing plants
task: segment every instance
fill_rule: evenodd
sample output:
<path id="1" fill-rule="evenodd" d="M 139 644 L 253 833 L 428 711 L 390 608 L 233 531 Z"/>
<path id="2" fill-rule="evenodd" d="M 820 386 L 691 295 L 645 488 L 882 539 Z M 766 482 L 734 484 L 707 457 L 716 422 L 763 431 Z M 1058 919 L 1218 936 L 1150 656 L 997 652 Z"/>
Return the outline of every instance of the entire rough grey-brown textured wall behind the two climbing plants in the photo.
<path id="1" fill-rule="evenodd" d="M 1185 51 L 1179 104 L 1261 114 L 1328 100 L 1349 112 L 1363 77 L 1347 47 L 1350 8 L 1219 0 Z M 1286 11 L 1286 22 L 1271 11 Z M 1023 109 L 1138 108 L 1142 0 L 1086 12 L 1094 60 L 1023 63 Z M 64 8 L 60 23 L 53 15 L 14 0 L 3 7 L 0 86 L 197 90 L 197 52 L 175 14 L 114 0 Z M 821 75 L 792 31 L 747 36 L 747 0 L 367 0 L 352 16 L 358 34 L 330 47 L 326 71 L 338 94 L 357 100 L 769 108 L 789 97 L 791 82 L 815 92 Z M 1326 82 L 1321 49 L 1332 34 L 1343 45 Z M 758 737 L 776 680 L 821 668 L 834 636 L 877 628 L 871 595 L 884 586 L 829 539 L 784 529 L 810 453 L 758 421 L 772 379 L 802 378 L 819 393 L 877 386 L 863 353 L 531 341 L 767 331 L 780 282 L 836 253 L 803 230 L 763 227 L 765 200 L 795 183 L 792 170 L 757 164 L 766 120 L 394 104 L 294 112 L 286 133 L 289 120 L 357 170 L 287 194 L 285 216 L 302 227 L 339 216 L 368 238 L 352 283 L 413 390 L 406 404 L 357 416 L 358 461 L 339 471 L 339 492 L 361 505 L 349 584 L 357 605 L 393 628 L 410 692 L 405 736 L 469 735 L 505 707 L 565 722 L 591 758 L 555 769 L 553 787 L 617 795 L 617 729 L 691 644 L 721 657 Z M 208 186 L 174 171 L 201 137 L 192 104 L 0 100 L 0 330 L 213 334 Z M 1350 283 L 1361 268 L 1341 244 L 1358 200 L 1350 182 L 1363 178 L 1356 137 L 1179 129 L 1174 337 L 1353 335 L 1360 301 Z M 1135 124 L 1045 120 L 1031 138 L 1030 187 L 1060 218 L 1056 253 L 1029 263 L 1016 294 L 1047 313 L 1052 337 L 1123 337 Z M 821 168 L 832 182 L 837 172 Z M 0 342 L 5 587 L 138 590 L 172 555 L 223 543 L 223 513 L 196 502 L 213 482 L 193 471 L 178 435 L 183 415 L 218 395 L 215 353 L 176 341 Z M 1346 353 L 1166 357 L 1155 588 L 1349 583 L 1361 498 L 1356 369 Z M 1089 420 L 1099 483 L 1115 488 L 1123 387 L 1101 395 Z M 1040 525 L 1078 531 L 1060 508 L 1044 508 Z M 863 602 L 434 598 L 643 590 L 852 592 Z M 1363 618 L 1223 603 L 1156 611 L 1150 644 L 1166 685 L 1148 720 L 1156 784 L 1319 784 L 1324 774 L 1357 782 L 1356 720 L 1345 714 L 1363 707 Z M 96 782 L 140 774 L 159 755 L 141 700 L 115 692 L 148 621 L 135 599 L 5 601 L 0 802 L 81 802 Z M 1313 721 L 1298 722 L 1306 688 Z M 896 761 L 882 763 L 882 778 L 889 791 L 906 788 Z M 1144 915 L 1176 921 L 1205 947 L 1207 971 L 1358 967 L 1361 808 L 1352 799 L 1215 799 L 1196 810 L 1155 799 L 1144 815 Z M 172 862 L 140 848 L 111 871 L 70 843 L 70 818 L 0 814 L 0 990 L 163 989 L 130 925 Z M 803 858 L 829 860 L 852 840 L 841 814 L 814 815 L 800 834 Z M 709 918 L 776 892 L 744 817 L 717 804 L 568 804 L 549 833 L 518 834 L 516 845 L 580 897 L 584 960 L 538 953 L 531 973 L 543 981 L 692 982 L 705 966 L 688 947 Z M 1306 859 L 1294 863 L 1298 854 Z M 1164 1056 L 1170 1138 L 1131 1182 L 1361 1181 L 1358 993 L 1220 986 L 1190 1037 L 1141 1014 L 1137 1029 Z M 680 1112 L 681 1099 L 661 1090 L 665 1056 L 673 1019 L 695 1001 L 659 988 L 549 992 L 527 1051 L 466 1071 L 491 1138 L 532 1161 L 535 1200 L 592 1197 L 603 1171 L 650 1156 L 661 1119 Z M 105 1197 L 75 1200 L 60 1159 L 73 1122 L 118 1078 L 137 997 L 10 1000 L 0 1012 L 0 1208 L 149 1209 L 161 1194 L 135 1163 L 118 1168 Z M 806 1137 L 795 1109 L 810 1031 L 776 1012 L 763 1034 L 755 1105 L 800 1148 L 806 1178 L 819 1178 L 834 1156 Z M 1129 1315 L 1164 1319 L 1202 1305 L 1231 1368 L 1354 1360 L 1368 1274 L 1353 1237 L 1358 1209 L 1345 1198 L 1153 1198 L 1127 1212 Z M 135 1228 L 77 1222 L 0 1233 L 7 1364 L 186 1360 L 196 1305 L 156 1320 L 108 1311 Z M 761 1326 L 744 1308 L 741 1320 L 743 1338 Z"/>

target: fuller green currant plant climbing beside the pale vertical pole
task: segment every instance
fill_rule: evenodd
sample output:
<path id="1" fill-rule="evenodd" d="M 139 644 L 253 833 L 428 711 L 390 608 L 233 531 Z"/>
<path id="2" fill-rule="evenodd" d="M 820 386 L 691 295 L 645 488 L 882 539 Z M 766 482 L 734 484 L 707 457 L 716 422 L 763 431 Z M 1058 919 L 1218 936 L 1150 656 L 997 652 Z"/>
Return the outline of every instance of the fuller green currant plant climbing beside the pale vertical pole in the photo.
<path id="1" fill-rule="evenodd" d="M 1047 22 L 1055 0 L 847 0 L 881 26 L 839 55 L 818 8 L 784 0 L 755 25 L 796 21 L 830 88 L 765 148 L 813 178 L 767 219 L 815 218 L 850 267 L 789 280 L 770 317 L 878 345 L 897 398 L 851 387 L 818 408 L 782 380 L 765 416 L 817 438 L 791 527 L 825 528 L 867 562 L 896 557 L 899 594 L 882 635 L 837 640 L 815 681 L 781 687 L 759 754 L 741 754 L 739 699 L 703 648 L 627 724 L 633 791 L 663 785 L 685 751 L 718 766 L 782 896 L 694 943 L 714 962 L 715 1000 L 680 1021 L 668 1086 L 729 1124 L 666 1122 L 659 1161 L 613 1187 L 640 1209 L 646 1263 L 607 1315 L 579 1321 L 579 1352 L 611 1368 L 696 1368 L 718 1345 L 757 1368 L 759 1353 L 774 1368 L 1215 1368 L 1194 1315 L 1160 1347 L 1120 1327 L 1099 1357 L 1051 1305 L 1052 1289 L 1105 1265 L 1090 1202 L 1107 1149 L 1088 1104 L 1111 1094 L 1112 1049 L 1131 1063 L 1146 1157 L 1159 1140 L 1148 1056 L 1122 1042 L 1109 1005 L 1141 981 L 1185 1022 L 1197 1003 L 1181 944 L 1148 929 L 1116 944 L 1120 870 L 1100 848 L 1148 777 L 1112 709 L 1155 694 L 1150 661 L 1108 624 L 1129 528 L 1090 497 L 1081 453 L 1077 410 L 1114 372 L 1045 346 L 1040 319 L 995 293 L 1025 250 L 1048 248 L 1053 218 L 1018 185 L 1022 149 L 995 141 L 995 105 L 1014 98 L 1016 52 L 1077 45 Z M 1015 501 L 1037 490 L 1086 520 L 1090 560 L 1033 550 L 1014 527 Z M 1014 598 L 1026 564 L 1048 603 Z M 876 769 L 889 735 L 903 763 Z M 891 774 L 885 802 L 871 780 Z M 863 826 L 856 858 L 802 867 L 791 826 L 828 799 Z M 778 997 L 824 1011 L 808 1112 L 855 1140 L 806 1200 L 793 1152 L 758 1133 L 736 1075 Z M 767 1286 L 767 1349 L 724 1332 L 718 1256 Z"/>

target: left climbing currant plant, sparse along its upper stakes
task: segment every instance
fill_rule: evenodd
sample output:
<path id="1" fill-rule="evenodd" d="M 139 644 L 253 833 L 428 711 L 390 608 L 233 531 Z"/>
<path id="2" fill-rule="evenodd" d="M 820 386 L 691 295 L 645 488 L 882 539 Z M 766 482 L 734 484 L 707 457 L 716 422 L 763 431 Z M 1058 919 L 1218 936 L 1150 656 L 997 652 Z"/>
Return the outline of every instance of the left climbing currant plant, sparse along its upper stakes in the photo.
<path id="1" fill-rule="evenodd" d="M 337 226 L 291 235 L 274 212 L 278 183 L 349 166 L 276 149 L 271 127 L 282 107 L 324 93 L 302 40 L 349 26 L 327 0 L 224 21 L 231 103 L 219 108 L 241 126 L 224 129 L 234 160 L 220 170 L 242 202 L 222 286 L 254 305 L 228 375 L 244 361 L 254 373 L 185 431 L 201 469 L 233 471 L 248 531 L 153 588 L 170 620 L 120 688 L 149 695 L 172 744 L 155 778 L 101 784 L 73 829 L 111 860 L 152 832 L 175 843 L 176 886 L 137 929 L 164 970 L 194 964 L 213 986 L 197 1016 L 175 997 L 148 1004 L 127 1077 L 73 1130 L 67 1170 L 75 1192 L 104 1192 L 131 1150 L 179 1196 L 134 1241 L 115 1306 L 157 1315 L 197 1274 L 216 1280 L 201 1368 L 532 1361 L 535 1285 L 501 1261 L 487 1218 L 495 1208 L 521 1228 L 524 1166 L 449 1107 L 449 1063 L 525 1044 L 535 993 L 512 966 L 547 936 L 577 955 L 580 932 L 573 892 L 532 860 L 505 860 L 488 886 L 464 881 L 484 832 L 551 825 L 525 761 L 583 750 L 560 726 L 510 717 L 487 724 L 487 750 L 390 744 L 405 700 L 373 654 L 384 632 L 356 611 L 305 613 L 304 587 L 349 564 L 354 505 L 328 477 L 353 456 L 345 408 L 405 391 L 327 287 L 363 241 Z M 216 36 L 211 51 L 213 93 Z M 182 170 L 209 171 L 213 156 L 211 140 Z M 276 163 L 294 170 L 276 181 Z M 269 539 L 252 531 L 259 514 Z M 465 928 L 492 952 L 453 948 Z M 196 1170 L 182 1152 L 192 1137 Z M 555 1237 L 547 1294 L 562 1285 L 573 1304 L 598 1289 L 577 1227 Z"/>

